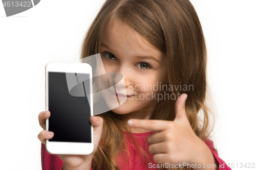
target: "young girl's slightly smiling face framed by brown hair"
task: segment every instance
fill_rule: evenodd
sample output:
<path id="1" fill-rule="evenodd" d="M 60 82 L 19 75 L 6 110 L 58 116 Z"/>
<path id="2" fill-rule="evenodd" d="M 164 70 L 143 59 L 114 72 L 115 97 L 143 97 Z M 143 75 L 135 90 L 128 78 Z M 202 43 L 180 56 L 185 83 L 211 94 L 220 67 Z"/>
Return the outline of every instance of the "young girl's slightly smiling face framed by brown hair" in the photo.
<path id="1" fill-rule="evenodd" d="M 126 114 L 157 104 L 156 85 L 167 81 L 166 55 L 129 26 L 113 21 L 103 32 L 99 52 L 105 72 L 119 72 L 127 100 L 112 111 Z M 117 87 L 118 88 L 118 87 Z M 114 95 L 115 96 L 115 95 Z M 121 95 L 119 95 L 121 96 Z M 108 99 L 113 98 L 109 96 Z"/>

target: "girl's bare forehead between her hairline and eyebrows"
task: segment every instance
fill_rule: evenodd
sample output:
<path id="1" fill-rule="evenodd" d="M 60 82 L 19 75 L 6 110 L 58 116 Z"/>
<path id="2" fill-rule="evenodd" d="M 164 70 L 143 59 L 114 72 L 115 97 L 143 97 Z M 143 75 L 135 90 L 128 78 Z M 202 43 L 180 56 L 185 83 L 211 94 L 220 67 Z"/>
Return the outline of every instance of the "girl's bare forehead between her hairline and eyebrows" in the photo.
<path id="1" fill-rule="evenodd" d="M 148 42 L 137 31 L 119 20 L 111 20 L 105 27 L 102 42 L 112 47 L 132 47 L 133 50 L 159 52 L 154 45 Z"/>

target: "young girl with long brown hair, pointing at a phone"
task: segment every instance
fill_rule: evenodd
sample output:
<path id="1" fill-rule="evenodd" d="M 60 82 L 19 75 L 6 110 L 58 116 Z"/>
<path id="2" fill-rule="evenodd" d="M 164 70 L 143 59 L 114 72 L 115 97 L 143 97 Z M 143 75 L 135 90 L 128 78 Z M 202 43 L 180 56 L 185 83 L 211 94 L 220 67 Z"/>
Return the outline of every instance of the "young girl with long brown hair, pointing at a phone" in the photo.
<path id="1" fill-rule="evenodd" d="M 206 46 L 188 0 L 107 0 L 81 59 L 98 53 L 105 72 L 123 75 L 127 100 L 90 118 L 91 155 L 50 155 L 54 134 L 40 132 L 42 169 L 230 169 L 208 139 Z M 43 129 L 49 116 L 39 114 Z"/>

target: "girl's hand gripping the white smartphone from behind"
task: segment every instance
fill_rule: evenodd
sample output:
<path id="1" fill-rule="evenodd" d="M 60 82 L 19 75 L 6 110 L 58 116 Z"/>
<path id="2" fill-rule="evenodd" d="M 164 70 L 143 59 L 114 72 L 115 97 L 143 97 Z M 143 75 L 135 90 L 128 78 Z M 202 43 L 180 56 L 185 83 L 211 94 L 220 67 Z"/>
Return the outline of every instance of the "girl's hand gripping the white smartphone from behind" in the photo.
<path id="1" fill-rule="evenodd" d="M 39 125 L 44 129 L 38 134 L 38 139 L 44 144 L 46 144 L 46 140 L 54 136 L 54 134 L 49 134 L 49 131 L 46 130 L 46 119 L 50 117 L 50 114 L 50 111 L 42 111 L 38 115 Z M 81 169 L 91 168 L 92 157 L 98 148 L 102 133 L 103 119 L 99 116 L 91 116 L 90 122 L 94 127 L 94 151 L 90 155 L 58 155 L 64 163 L 63 170 L 74 167 L 81 167 Z"/>

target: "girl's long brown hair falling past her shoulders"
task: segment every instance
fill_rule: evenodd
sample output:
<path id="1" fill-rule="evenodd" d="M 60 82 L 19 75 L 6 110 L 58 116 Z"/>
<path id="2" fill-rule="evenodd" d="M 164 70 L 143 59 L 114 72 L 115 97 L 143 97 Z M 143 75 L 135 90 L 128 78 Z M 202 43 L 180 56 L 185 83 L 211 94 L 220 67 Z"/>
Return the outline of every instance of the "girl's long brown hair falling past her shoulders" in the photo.
<path id="1" fill-rule="evenodd" d="M 174 88 L 168 93 L 188 95 L 185 104 L 188 120 L 196 135 L 205 141 L 213 127 L 212 112 L 207 107 L 205 39 L 193 5 L 188 0 L 107 0 L 84 38 L 81 59 L 99 53 L 103 30 L 113 20 L 130 26 L 166 54 L 167 85 L 193 86 L 193 90 Z M 151 119 L 174 120 L 175 102 L 160 101 Z M 202 119 L 199 113 L 203 113 Z M 103 131 L 92 167 L 119 169 L 115 158 L 127 149 L 121 129 L 129 131 L 129 128 L 122 121 L 124 115 L 109 111 L 99 116 L 104 119 Z M 139 151 L 146 156 L 142 149 Z"/>

